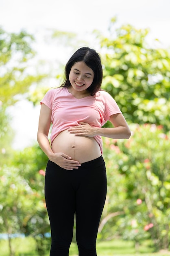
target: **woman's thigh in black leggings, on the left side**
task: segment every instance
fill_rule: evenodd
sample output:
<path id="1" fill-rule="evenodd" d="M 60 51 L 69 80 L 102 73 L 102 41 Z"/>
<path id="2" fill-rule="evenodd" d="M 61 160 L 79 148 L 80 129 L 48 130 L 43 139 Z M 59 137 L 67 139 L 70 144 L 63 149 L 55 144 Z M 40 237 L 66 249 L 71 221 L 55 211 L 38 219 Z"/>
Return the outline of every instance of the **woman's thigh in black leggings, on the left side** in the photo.
<path id="1" fill-rule="evenodd" d="M 52 238 L 72 238 L 75 212 L 75 191 L 68 171 L 49 161 L 45 177 L 45 199 Z"/>

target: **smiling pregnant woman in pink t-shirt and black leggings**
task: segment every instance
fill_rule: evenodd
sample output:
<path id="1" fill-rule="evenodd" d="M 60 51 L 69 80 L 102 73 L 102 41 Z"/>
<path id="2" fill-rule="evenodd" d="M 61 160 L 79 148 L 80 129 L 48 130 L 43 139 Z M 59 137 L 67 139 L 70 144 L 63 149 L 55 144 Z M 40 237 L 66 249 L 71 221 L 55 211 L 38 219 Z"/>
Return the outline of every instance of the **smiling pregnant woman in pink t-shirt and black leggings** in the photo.
<path id="1" fill-rule="evenodd" d="M 50 89 L 41 101 L 37 140 L 49 158 L 45 198 L 52 238 L 50 256 L 69 255 L 74 216 L 79 256 L 96 256 L 107 191 L 102 136 L 131 136 L 116 101 L 100 89 L 101 83 L 99 54 L 82 47 L 66 64 L 64 83 Z M 108 120 L 113 127 L 102 128 Z"/>

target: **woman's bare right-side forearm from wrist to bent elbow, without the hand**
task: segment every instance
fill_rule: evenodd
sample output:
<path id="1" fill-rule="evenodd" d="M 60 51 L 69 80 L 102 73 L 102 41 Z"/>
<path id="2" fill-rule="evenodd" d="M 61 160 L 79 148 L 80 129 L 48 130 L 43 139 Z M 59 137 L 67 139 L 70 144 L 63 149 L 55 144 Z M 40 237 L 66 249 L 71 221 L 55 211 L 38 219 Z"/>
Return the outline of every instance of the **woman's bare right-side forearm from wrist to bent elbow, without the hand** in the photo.
<path id="1" fill-rule="evenodd" d="M 118 126 L 115 128 L 97 128 L 96 135 L 108 137 L 111 139 L 129 139 L 131 131 L 129 127 Z"/>

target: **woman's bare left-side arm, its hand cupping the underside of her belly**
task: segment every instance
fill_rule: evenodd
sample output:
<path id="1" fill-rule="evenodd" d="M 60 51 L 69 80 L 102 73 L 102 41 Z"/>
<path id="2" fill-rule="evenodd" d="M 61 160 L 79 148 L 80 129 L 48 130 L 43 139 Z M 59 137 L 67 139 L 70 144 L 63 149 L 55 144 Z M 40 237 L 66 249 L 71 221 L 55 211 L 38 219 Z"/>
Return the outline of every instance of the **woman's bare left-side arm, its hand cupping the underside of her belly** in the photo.
<path id="1" fill-rule="evenodd" d="M 52 111 L 45 104 L 41 105 L 40 115 L 39 115 L 39 126 L 37 132 L 37 141 L 40 148 L 48 156 L 48 158 L 58 164 L 60 167 L 66 170 L 77 169 L 81 164 L 78 161 L 72 160 L 72 158 L 64 153 L 54 153 L 51 149 L 50 142 L 48 140 L 48 133 L 51 124 L 51 114 Z"/>

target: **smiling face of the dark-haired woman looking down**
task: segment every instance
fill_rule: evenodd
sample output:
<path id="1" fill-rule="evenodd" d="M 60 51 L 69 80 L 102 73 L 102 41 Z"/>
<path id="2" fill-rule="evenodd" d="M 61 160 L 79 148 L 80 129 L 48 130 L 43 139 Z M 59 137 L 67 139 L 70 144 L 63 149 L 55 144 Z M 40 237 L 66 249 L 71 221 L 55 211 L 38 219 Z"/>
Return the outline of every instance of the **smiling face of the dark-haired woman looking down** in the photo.
<path id="1" fill-rule="evenodd" d="M 72 88 L 77 92 L 87 90 L 94 79 L 93 70 L 83 61 L 74 63 L 70 70 L 69 80 Z"/>

